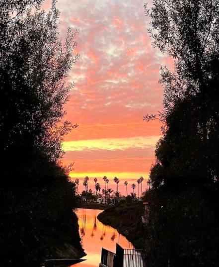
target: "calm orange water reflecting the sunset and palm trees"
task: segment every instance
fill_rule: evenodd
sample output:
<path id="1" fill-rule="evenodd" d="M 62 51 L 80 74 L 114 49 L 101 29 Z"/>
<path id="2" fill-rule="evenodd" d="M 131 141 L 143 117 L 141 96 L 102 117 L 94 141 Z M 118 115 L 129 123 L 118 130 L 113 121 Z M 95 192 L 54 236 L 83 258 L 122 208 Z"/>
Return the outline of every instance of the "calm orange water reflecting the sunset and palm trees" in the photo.
<path id="1" fill-rule="evenodd" d="M 102 210 L 78 209 L 79 232 L 82 238 L 87 259 L 83 263 L 73 265 L 72 267 L 99 267 L 101 260 L 101 249 L 107 249 L 115 253 L 116 243 L 124 248 L 132 249 L 132 244 L 114 228 L 103 225 L 96 218 Z"/>

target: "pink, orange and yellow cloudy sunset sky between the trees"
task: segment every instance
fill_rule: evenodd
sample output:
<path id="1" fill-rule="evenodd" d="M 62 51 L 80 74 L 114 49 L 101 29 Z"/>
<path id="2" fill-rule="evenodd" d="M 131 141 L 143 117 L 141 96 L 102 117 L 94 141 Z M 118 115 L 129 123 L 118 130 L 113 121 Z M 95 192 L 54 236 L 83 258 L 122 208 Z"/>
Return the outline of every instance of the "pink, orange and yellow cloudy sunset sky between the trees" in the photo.
<path id="1" fill-rule="evenodd" d="M 145 122 L 143 116 L 162 109 L 163 89 L 158 80 L 160 67 L 172 61 L 151 45 L 144 13 L 145 0 L 59 0 L 61 37 L 68 27 L 76 35 L 80 54 L 67 78 L 75 83 L 66 105 L 66 119 L 79 127 L 65 138 L 64 164 L 74 163 L 70 176 L 79 178 L 79 191 L 85 176 L 89 188 L 93 178 L 103 188 L 120 179 L 119 191 L 125 194 L 124 181 L 131 184 L 144 177 L 147 187 L 154 149 L 161 137 L 158 120 Z M 48 10 L 51 1 L 43 7 Z M 89 189 L 88 188 L 88 189 Z"/>

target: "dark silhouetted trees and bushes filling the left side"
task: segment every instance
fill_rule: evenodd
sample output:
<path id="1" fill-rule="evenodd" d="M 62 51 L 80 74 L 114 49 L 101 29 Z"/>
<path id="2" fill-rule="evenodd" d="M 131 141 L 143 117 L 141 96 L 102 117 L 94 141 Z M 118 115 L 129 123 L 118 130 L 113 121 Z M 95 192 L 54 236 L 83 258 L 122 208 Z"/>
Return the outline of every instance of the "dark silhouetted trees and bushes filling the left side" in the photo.
<path id="1" fill-rule="evenodd" d="M 39 267 L 45 259 L 80 258 L 75 184 L 62 166 L 63 121 L 78 55 L 70 29 L 58 34 L 55 2 L 0 3 L 0 265 Z M 33 11 L 33 8 L 35 11 Z"/>

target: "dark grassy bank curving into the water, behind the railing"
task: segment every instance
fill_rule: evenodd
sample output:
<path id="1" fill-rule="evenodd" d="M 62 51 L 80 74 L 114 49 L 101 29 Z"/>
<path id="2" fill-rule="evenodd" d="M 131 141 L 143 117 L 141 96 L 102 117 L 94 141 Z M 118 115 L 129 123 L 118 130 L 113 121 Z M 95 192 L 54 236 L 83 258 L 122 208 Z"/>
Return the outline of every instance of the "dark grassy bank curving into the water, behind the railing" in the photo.
<path id="1" fill-rule="evenodd" d="M 124 235 L 133 245 L 142 248 L 142 234 L 134 231 L 134 224 L 141 220 L 143 203 L 121 203 L 101 212 L 97 218 Z"/>

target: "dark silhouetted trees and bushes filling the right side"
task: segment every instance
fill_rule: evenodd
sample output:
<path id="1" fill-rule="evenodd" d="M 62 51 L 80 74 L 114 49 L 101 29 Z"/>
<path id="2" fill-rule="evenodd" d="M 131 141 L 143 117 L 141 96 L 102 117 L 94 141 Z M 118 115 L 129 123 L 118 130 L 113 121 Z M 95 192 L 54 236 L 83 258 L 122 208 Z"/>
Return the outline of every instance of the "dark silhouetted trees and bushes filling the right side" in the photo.
<path id="1" fill-rule="evenodd" d="M 163 137 L 150 170 L 144 237 L 154 267 L 219 266 L 219 2 L 154 0 L 153 45 L 174 59 L 161 69 Z"/>

